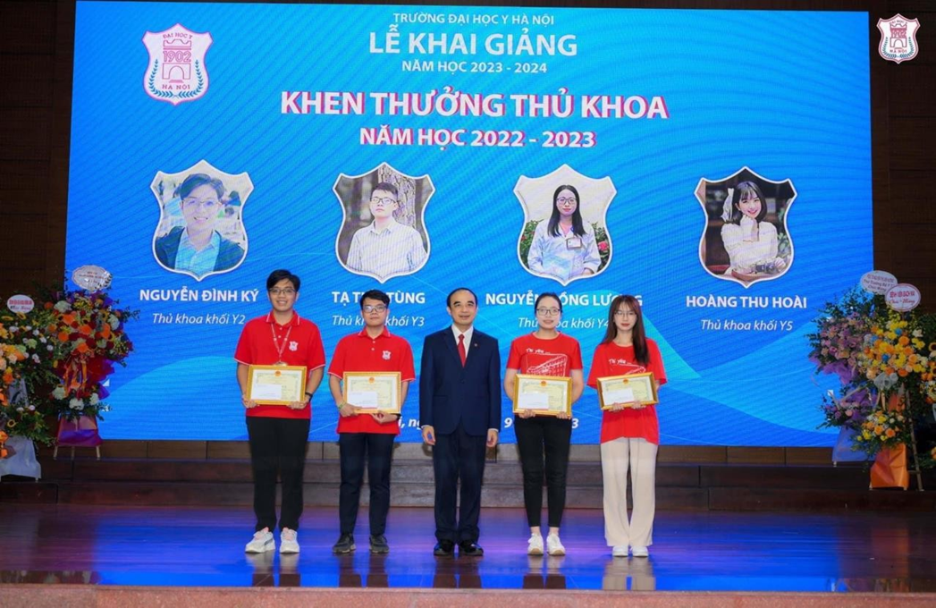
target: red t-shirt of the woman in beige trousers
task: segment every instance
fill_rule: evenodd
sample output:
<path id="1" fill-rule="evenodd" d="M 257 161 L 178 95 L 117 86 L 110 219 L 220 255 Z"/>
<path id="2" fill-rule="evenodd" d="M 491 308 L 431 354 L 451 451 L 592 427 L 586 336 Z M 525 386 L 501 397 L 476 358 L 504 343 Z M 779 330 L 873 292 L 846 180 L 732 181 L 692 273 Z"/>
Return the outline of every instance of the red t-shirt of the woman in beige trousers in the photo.
<path id="1" fill-rule="evenodd" d="M 647 338 L 647 354 L 650 362 L 645 367 L 636 363 L 634 347 L 619 347 L 613 342 L 599 344 L 594 349 L 588 385 L 594 389 L 598 386 L 598 378 L 643 372 L 653 372 L 653 378 L 661 386 L 664 385 L 666 371 L 663 368 L 663 358 L 660 356 L 660 348 L 650 338 Z M 655 407 L 604 411 L 602 414 L 604 414 L 601 420 L 602 443 L 620 437 L 642 437 L 653 444 L 660 445 L 660 424 L 656 419 Z"/>

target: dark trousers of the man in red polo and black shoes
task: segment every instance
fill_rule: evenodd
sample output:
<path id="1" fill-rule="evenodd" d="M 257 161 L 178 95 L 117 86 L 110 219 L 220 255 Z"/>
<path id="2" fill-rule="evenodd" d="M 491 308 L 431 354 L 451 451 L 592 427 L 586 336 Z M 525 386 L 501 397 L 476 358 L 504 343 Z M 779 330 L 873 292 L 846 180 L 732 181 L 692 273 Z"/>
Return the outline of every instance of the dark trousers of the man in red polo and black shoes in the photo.
<path id="1" fill-rule="evenodd" d="M 390 463 L 393 440 L 388 433 L 341 433 L 338 448 L 342 462 L 342 485 L 338 494 L 338 516 L 342 534 L 354 534 L 360 506 L 360 486 L 364 482 L 364 461 L 371 486 L 371 534 L 387 530 L 390 510 Z"/>

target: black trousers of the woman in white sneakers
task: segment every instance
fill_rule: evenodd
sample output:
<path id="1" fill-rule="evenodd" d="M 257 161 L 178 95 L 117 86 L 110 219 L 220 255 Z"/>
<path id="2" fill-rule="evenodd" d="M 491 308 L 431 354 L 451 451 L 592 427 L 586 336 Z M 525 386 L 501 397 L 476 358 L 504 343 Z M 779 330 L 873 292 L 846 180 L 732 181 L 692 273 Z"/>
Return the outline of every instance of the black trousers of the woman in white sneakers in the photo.
<path id="1" fill-rule="evenodd" d="M 549 527 L 559 527 L 565 511 L 565 473 L 569 467 L 572 421 L 553 416 L 514 418 L 520 467 L 523 469 L 523 504 L 527 522 L 539 526 L 543 511 L 543 477 L 546 474 Z M 544 452 L 546 467 L 543 466 Z"/>

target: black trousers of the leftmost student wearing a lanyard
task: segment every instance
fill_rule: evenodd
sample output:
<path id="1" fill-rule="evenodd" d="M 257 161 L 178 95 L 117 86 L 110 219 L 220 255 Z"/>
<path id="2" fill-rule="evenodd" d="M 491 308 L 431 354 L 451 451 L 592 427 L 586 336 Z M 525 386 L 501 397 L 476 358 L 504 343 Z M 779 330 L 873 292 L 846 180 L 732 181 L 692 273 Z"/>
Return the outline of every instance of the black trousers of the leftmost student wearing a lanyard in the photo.
<path id="1" fill-rule="evenodd" d="M 308 420 L 247 417 L 250 464 L 254 470 L 256 529 L 276 529 L 276 474 L 283 482 L 280 528 L 299 529 L 302 470 L 309 440 Z"/>

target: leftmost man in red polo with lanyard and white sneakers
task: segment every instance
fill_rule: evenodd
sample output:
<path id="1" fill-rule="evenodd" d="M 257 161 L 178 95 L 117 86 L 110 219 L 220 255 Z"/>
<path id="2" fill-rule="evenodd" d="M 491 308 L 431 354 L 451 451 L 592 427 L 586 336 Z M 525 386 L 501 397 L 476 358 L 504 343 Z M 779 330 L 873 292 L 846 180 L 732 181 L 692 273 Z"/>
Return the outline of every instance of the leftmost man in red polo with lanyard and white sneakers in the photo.
<path id="1" fill-rule="evenodd" d="M 325 371 L 325 349 L 318 328 L 301 319 L 293 306 L 299 300 L 300 278 L 275 270 L 267 278 L 272 310 L 247 321 L 234 359 L 241 400 L 247 411 L 250 463 L 254 471 L 256 534 L 248 553 L 276 548 L 271 530 L 276 527 L 276 474 L 283 483 L 280 513 L 280 553 L 299 553 L 299 518 L 302 514 L 302 470 L 312 420 L 310 400 Z M 288 406 L 258 406 L 247 395 L 250 365 L 301 365 L 308 370 L 305 395 Z"/>

